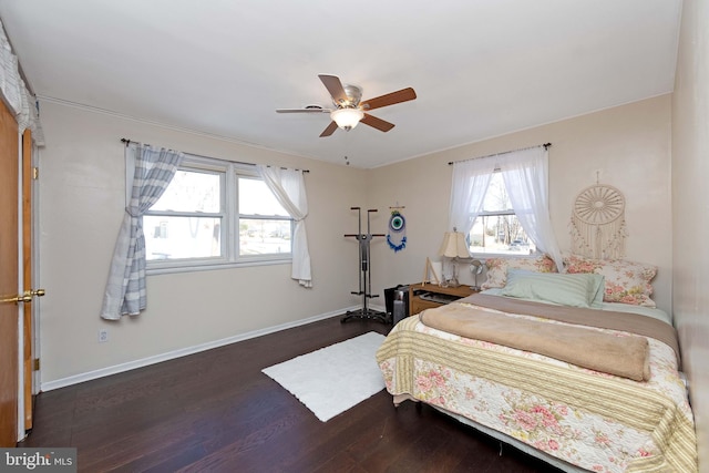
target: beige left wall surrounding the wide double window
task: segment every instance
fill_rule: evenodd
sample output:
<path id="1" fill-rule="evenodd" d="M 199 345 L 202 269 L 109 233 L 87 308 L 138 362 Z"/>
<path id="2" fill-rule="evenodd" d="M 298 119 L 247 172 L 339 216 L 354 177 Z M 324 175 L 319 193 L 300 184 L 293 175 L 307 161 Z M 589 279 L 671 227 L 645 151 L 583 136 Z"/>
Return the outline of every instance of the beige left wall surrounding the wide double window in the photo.
<path id="1" fill-rule="evenodd" d="M 257 150 L 109 114 L 41 102 L 47 146 L 40 151 L 42 385 L 134 363 L 216 340 L 292 325 L 357 307 L 354 230 L 367 173 Z M 109 265 L 123 217 L 121 137 L 189 153 L 308 168 L 314 288 L 290 279 L 290 265 L 150 276 L 147 310 L 100 319 Z M 109 342 L 99 343 L 99 330 Z M 93 373 L 95 374 L 95 373 Z M 89 376 L 93 376 L 89 374 Z"/>

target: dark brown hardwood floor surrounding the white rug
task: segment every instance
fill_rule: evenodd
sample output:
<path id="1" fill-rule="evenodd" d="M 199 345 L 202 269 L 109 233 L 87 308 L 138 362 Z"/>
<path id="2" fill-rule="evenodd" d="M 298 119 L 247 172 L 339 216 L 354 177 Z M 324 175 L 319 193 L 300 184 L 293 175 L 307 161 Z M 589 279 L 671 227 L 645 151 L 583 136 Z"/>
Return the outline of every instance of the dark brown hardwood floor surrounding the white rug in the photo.
<path id="1" fill-rule="evenodd" d="M 19 446 L 74 446 L 81 472 L 556 472 L 386 390 L 320 422 L 263 368 L 390 326 L 339 318 L 37 398 Z M 342 367 L 347 376 L 347 367 Z"/>

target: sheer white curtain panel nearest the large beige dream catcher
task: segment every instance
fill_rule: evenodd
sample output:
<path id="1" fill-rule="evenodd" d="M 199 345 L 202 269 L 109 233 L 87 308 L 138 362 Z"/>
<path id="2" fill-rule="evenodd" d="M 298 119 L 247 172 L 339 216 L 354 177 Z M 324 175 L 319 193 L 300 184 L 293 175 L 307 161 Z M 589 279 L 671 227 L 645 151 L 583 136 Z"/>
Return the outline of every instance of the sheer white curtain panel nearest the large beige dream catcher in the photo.
<path id="1" fill-rule="evenodd" d="M 544 146 L 497 156 L 497 166 L 514 213 L 536 247 L 564 269 L 548 206 L 548 152 Z"/>

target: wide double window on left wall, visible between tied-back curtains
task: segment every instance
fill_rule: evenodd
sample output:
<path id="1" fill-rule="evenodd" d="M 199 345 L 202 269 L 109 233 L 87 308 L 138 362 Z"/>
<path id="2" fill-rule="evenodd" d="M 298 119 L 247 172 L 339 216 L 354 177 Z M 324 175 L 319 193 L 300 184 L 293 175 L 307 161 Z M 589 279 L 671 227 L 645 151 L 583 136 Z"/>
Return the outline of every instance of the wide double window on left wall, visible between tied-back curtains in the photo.
<path id="1" fill-rule="evenodd" d="M 292 218 L 248 165 L 185 156 L 143 229 L 148 269 L 291 257 Z"/>

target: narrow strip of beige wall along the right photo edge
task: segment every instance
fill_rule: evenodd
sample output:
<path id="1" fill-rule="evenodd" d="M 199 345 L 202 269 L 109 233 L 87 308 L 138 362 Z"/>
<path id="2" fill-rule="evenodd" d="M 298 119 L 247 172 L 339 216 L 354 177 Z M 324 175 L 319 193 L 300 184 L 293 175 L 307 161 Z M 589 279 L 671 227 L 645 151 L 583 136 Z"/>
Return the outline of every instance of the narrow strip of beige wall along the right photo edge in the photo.
<path id="1" fill-rule="evenodd" d="M 672 96 L 674 310 L 709 472 L 709 6 L 685 0 Z"/>

